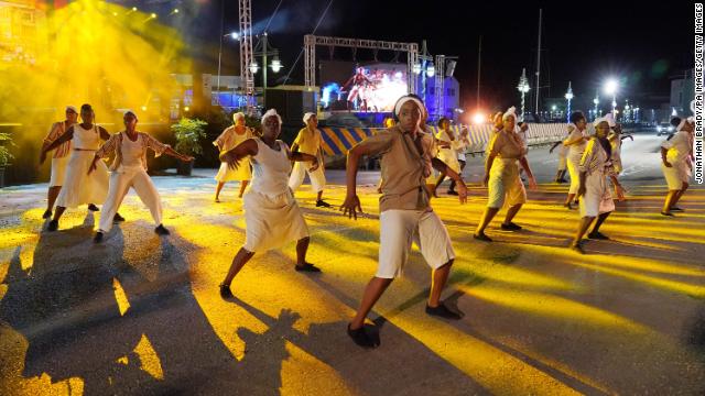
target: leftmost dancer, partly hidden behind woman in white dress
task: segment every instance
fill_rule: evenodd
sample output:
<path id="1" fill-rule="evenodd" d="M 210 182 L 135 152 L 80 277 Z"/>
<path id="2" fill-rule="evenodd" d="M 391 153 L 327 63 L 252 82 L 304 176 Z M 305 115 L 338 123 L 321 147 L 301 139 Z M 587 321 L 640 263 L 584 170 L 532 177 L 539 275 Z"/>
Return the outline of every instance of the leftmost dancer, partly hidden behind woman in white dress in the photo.
<path id="1" fill-rule="evenodd" d="M 78 110 L 73 106 L 67 106 L 66 120 L 54 122 L 48 134 L 44 138 L 44 144 L 42 145 L 41 151 L 42 154 L 40 155 L 40 164 L 43 164 L 44 161 L 46 161 L 47 151 L 45 148 L 48 147 L 50 144 L 54 143 L 55 140 L 61 138 L 66 130 L 76 123 L 76 121 L 78 121 Z M 70 154 L 70 141 L 58 145 L 54 151 L 54 156 L 52 157 L 52 176 L 48 180 L 48 191 L 46 194 L 46 211 L 42 215 L 42 219 L 48 219 L 52 217 L 54 202 L 56 202 L 56 197 L 58 197 L 58 193 L 62 190 L 62 185 L 64 184 L 68 154 Z"/>

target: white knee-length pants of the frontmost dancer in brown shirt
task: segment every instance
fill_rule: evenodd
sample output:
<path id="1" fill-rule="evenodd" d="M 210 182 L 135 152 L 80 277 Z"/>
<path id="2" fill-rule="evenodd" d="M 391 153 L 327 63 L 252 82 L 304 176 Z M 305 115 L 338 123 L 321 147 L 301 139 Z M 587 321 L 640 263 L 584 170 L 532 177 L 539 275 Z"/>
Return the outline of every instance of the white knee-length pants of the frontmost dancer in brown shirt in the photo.
<path id="1" fill-rule="evenodd" d="M 448 231 L 434 211 L 390 209 L 383 211 L 379 220 L 376 277 L 392 279 L 401 276 L 412 242 L 434 270 L 455 258 Z"/>

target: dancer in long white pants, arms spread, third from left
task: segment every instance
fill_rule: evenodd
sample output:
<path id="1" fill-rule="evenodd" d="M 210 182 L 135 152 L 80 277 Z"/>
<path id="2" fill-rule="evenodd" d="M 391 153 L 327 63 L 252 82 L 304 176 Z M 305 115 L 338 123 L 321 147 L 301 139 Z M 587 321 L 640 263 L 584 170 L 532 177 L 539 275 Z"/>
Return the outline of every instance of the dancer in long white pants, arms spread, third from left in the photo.
<path id="1" fill-rule="evenodd" d="M 147 150 L 154 151 L 155 156 L 166 154 L 183 162 L 189 162 L 192 156 L 180 154 L 166 144 L 159 142 L 144 132 L 137 130 L 138 118 L 132 110 L 124 112 L 122 118 L 124 131 L 116 133 L 96 152 L 96 155 L 88 168 L 88 175 L 96 170 L 97 163 L 116 154 L 112 165 L 110 165 L 110 187 L 108 198 L 102 206 L 98 231 L 94 241 L 100 243 L 102 235 L 112 228 L 112 220 L 118 212 L 122 199 L 128 194 L 130 187 L 134 189 L 142 204 L 152 213 L 156 228 L 154 232 L 159 235 L 169 235 L 169 230 L 162 224 L 162 202 L 154 187 L 154 183 L 147 174 Z"/>

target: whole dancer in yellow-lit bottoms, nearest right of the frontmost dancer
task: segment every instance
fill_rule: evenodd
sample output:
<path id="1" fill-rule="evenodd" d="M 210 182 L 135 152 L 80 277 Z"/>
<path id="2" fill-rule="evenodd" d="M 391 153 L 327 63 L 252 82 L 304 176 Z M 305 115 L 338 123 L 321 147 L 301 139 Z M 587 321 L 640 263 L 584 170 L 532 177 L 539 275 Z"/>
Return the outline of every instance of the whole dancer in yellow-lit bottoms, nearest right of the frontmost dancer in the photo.
<path id="1" fill-rule="evenodd" d="M 476 240 L 492 241 L 485 234 L 485 229 L 492 221 L 505 200 L 508 201 L 509 209 L 501 229 L 507 231 L 521 230 L 521 226 L 512 222 L 521 206 L 527 202 L 527 190 L 519 178 L 519 164 L 529 176 L 529 188 L 536 188 L 536 180 L 525 157 L 527 148 L 514 130 L 517 122 L 514 111 L 516 109 L 511 107 L 502 116 L 503 129 L 492 136 L 488 147 L 489 154 L 485 163 L 484 178 L 484 184 L 488 187 L 488 200 L 482 220 L 473 234 Z"/>

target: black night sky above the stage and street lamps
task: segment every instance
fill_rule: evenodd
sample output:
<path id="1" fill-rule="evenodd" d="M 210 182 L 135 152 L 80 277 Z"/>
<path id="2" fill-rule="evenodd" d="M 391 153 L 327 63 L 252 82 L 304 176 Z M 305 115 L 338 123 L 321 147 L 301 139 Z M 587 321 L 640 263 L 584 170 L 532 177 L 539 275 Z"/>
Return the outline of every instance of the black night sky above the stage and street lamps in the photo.
<path id="1" fill-rule="evenodd" d="M 148 6 L 167 3 L 178 2 Z M 259 33 L 279 0 L 252 3 L 254 33 Z M 181 4 L 191 7 L 184 15 L 189 20 L 182 21 L 186 40 L 198 47 L 203 67 L 215 73 L 223 4 L 217 0 Z M 294 63 L 303 35 L 312 32 L 328 0 L 283 0 L 269 32 L 271 44 L 282 52 L 284 72 Z M 637 105 L 668 102 L 670 77 L 693 67 L 693 4 L 686 1 L 523 2 L 512 3 L 509 10 L 499 2 L 334 0 L 316 34 L 417 43 L 425 38 L 432 55 L 459 56 L 455 77 L 460 82 L 460 105 L 466 109 L 476 107 L 481 34 L 481 106 L 506 108 L 519 100 L 516 86 L 522 67 L 527 67 L 531 87 L 535 86 L 539 8 L 543 9 L 542 86 L 546 86 L 542 97 L 563 97 L 571 80 L 576 99 L 582 96 L 588 100 L 608 76 L 615 76 L 622 80 L 619 98 L 630 98 Z M 226 1 L 226 33 L 238 30 L 237 15 L 237 1 Z M 321 48 L 318 57 L 327 56 L 327 50 Z M 391 61 L 393 56 L 380 53 L 378 58 Z M 351 53 L 339 50 L 336 57 L 351 61 Z M 358 51 L 358 61 L 371 58 L 371 52 Z M 400 61 L 404 62 L 403 55 Z M 237 43 L 226 38 L 223 74 L 238 74 L 238 68 Z M 303 59 L 292 78 L 295 82 L 303 80 Z"/>

